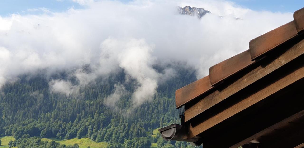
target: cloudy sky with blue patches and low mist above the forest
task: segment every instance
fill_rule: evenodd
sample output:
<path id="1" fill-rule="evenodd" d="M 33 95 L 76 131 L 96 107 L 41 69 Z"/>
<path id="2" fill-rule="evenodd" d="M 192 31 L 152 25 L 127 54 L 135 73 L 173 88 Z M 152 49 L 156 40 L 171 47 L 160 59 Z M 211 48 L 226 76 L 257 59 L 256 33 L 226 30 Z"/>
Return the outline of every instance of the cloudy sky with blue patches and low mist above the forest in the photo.
<path id="1" fill-rule="evenodd" d="M 132 94 L 140 106 L 179 76 L 176 67 L 207 76 L 210 66 L 248 50 L 250 40 L 292 21 L 303 6 L 280 2 L 0 0 L 0 88 L 41 74 L 51 92 L 81 97 L 79 89 L 123 71 L 126 79 L 113 84 L 105 104 Z M 177 5 L 212 13 L 180 15 Z"/>

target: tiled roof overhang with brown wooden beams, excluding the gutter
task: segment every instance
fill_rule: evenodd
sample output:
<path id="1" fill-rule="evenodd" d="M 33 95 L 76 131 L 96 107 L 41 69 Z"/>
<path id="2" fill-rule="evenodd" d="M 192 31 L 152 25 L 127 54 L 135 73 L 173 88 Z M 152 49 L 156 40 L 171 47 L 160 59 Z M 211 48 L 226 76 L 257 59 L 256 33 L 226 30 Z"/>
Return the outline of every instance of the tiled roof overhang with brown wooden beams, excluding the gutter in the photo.
<path id="1" fill-rule="evenodd" d="M 304 143 L 304 8 L 293 17 L 175 92 L 176 107 L 185 105 L 188 139 L 203 139 L 205 148 Z"/>

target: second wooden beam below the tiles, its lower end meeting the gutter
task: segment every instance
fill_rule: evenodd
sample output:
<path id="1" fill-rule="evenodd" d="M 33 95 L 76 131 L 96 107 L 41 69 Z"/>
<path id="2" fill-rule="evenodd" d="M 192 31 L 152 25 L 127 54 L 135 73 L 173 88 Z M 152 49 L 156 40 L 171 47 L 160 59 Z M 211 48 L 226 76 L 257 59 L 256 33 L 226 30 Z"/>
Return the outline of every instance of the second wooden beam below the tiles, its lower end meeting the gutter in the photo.
<path id="1" fill-rule="evenodd" d="M 300 64 L 303 65 L 303 63 Z M 217 125 L 220 122 L 223 122 L 227 118 L 230 118 L 231 116 L 239 113 L 240 111 L 243 111 L 244 109 L 250 107 L 251 105 L 256 104 L 257 102 L 265 99 L 266 97 L 278 92 L 279 90 L 282 90 L 286 86 L 295 83 L 296 81 L 298 81 L 303 77 L 304 77 L 304 66 L 302 66 L 299 69 L 296 69 L 291 73 L 288 73 L 286 76 L 282 76 L 274 83 L 265 86 L 264 88 L 257 91 L 256 93 L 251 94 L 249 97 L 245 98 L 244 100 L 241 100 L 240 102 L 219 112 L 217 115 L 199 123 L 198 125 L 196 124 L 195 126 L 192 126 L 191 123 L 188 124 L 189 126 L 188 138 L 197 136 L 198 134 L 206 131 L 212 126 Z"/>

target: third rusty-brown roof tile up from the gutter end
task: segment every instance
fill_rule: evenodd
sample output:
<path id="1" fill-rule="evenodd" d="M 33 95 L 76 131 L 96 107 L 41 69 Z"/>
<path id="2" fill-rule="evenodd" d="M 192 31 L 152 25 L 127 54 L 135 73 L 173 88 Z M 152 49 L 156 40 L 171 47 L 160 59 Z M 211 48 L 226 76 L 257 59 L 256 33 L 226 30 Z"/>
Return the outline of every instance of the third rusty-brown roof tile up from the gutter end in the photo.
<path id="1" fill-rule="evenodd" d="M 257 57 L 263 55 L 267 51 L 270 51 L 292 37 L 295 37 L 296 35 L 297 30 L 295 28 L 295 21 L 291 21 L 255 39 L 252 39 L 249 42 L 251 59 L 256 59 Z"/>

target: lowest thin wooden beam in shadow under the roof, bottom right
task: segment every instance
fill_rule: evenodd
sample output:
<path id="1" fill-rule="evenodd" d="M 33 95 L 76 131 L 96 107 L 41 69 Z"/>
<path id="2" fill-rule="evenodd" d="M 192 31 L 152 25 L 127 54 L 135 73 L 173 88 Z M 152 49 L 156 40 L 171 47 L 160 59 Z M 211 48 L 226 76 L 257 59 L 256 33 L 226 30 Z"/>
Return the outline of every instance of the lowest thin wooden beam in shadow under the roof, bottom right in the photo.
<path id="1" fill-rule="evenodd" d="M 281 122 L 276 123 L 275 125 L 272 125 L 272 126 L 268 127 L 267 129 L 262 130 L 261 132 L 258 132 L 257 134 L 255 134 L 253 136 L 250 136 L 249 138 L 231 146 L 230 148 L 240 147 L 240 146 L 250 142 L 251 140 L 258 139 L 259 137 L 261 137 L 265 134 L 268 134 L 269 132 L 271 132 L 275 129 L 279 129 L 279 128 L 285 126 L 286 124 L 289 124 L 288 122 L 292 122 L 293 120 L 295 120 L 297 118 L 300 118 L 300 117 L 303 117 L 303 116 L 304 116 L 304 110 L 302 110 L 302 111 L 296 113 L 295 115 L 292 115 L 292 116 L 282 120 Z"/>

